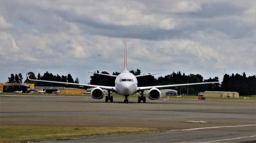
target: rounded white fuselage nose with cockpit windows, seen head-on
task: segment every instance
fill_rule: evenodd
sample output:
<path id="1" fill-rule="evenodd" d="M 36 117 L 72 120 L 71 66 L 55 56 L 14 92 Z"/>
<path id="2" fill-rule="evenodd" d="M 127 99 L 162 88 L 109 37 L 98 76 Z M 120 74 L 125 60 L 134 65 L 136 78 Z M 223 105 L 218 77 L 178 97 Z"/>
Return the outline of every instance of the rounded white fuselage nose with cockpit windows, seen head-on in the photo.
<path id="1" fill-rule="evenodd" d="M 115 80 L 116 91 L 121 95 L 134 94 L 138 87 L 137 78 L 129 71 L 123 71 Z"/>

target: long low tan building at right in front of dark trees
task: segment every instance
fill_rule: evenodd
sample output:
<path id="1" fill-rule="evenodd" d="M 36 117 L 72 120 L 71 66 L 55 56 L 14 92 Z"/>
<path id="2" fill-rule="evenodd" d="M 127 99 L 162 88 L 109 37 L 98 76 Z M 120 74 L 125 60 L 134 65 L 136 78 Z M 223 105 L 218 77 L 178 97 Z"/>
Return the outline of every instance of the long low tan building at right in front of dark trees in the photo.
<path id="1" fill-rule="evenodd" d="M 228 92 L 228 91 L 205 91 L 199 92 L 198 96 L 202 95 L 204 97 L 234 97 L 239 98 L 238 92 Z"/>

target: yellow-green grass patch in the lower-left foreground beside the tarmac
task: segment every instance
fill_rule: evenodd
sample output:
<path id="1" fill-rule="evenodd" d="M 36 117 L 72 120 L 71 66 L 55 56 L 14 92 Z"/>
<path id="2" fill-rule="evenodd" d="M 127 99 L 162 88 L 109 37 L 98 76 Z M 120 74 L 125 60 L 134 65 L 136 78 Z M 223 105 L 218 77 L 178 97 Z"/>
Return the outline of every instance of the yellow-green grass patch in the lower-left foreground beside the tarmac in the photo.
<path id="1" fill-rule="evenodd" d="M 0 143 L 74 139 L 125 133 L 150 133 L 158 129 L 136 127 L 65 127 L 0 125 Z"/>

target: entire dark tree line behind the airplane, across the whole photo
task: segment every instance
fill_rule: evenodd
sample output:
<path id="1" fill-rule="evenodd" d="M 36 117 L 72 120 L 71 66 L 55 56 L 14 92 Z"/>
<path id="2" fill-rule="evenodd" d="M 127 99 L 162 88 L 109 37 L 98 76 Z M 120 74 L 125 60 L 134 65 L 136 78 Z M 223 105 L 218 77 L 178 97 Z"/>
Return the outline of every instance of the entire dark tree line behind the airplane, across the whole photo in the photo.
<path id="1" fill-rule="evenodd" d="M 130 71 L 134 75 L 140 75 L 141 72 L 139 69 L 136 71 Z M 102 74 L 109 74 L 106 71 L 99 72 Z M 50 80 L 50 81 L 58 81 L 58 82 L 70 82 L 70 83 L 79 83 L 78 78 L 73 80 L 71 74 L 67 76 L 53 75 L 52 73 L 45 72 L 43 75 L 38 73 L 37 77 L 33 72 L 29 72 L 30 79 L 37 80 Z M 120 72 L 113 72 L 112 75 L 118 75 Z M 102 85 L 102 86 L 114 86 L 115 78 L 110 76 L 104 76 L 99 74 L 93 74 L 90 76 L 90 82 L 88 84 L 92 85 Z M 6 83 L 22 83 L 22 75 L 19 73 L 18 75 L 11 74 L 8 77 L 8 82 Z M 154 76 L 142 76 L 138 77 L 138 86 L 157 86 L 157 85 L 169 85 L 169 84 L 185 84 L 185 83 L 198 83 L 198 82 L 216 82 L 219 81 L 218 77 L 204 79 L 200 74 L 189 74 L 186 75 L 184 72 L 172 72 L 171 74 L 167 74 L 166 76 L 160 76 L 158 78 L 154 78 Z M 84 86 L 74 86 L 74 85 L 65 85 L 65 84 L 56 84 L 49 82 L 34 82 L 31 80 L 26 80 L 24 83 L 34 83 L 35 86 L 64 86 L 64 87 L 72 87 L 72 88 L 83 88 L 86 89 L 88 87 Z M 196 95 L 198 92 L 208 91 L 234 91 L 238 92 L 241 96 L 246 95 L 255 95 L 256 94 L 256 76 L 246 76 L 245 72 L 240 74 L 225 74 L 223 82 L 217 84 L 203 84 L 203 85 L 194 85 L 194 86 L 179 86 L 178 88 L 172 87 L 169 89 L 178 90 L 178 94 L 187 94 L 188 95 Z"/>

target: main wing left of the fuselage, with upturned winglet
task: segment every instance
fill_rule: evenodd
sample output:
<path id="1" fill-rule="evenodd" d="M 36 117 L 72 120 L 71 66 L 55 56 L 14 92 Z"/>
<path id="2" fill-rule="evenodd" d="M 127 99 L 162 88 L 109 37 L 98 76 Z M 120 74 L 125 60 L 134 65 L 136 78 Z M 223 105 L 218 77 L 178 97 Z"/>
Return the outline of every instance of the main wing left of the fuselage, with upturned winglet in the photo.
<path id="1" fill-rule="evenodd" d="M 27 74 L 28 76 L 28 74 Z M 105 90 L 110 90 L 110 91 L 116 91 L 116 87 L 114 86 L 100 86 L 100 85 L 91 85 L 91 84 L 80 84 L 80 83 L 70 83 L 70 82 L 58 82 L 58 81 L 48 81 L 48 80 L 35 80 L 35 79 L 30 79 L 28 76 L 29 80 L 36 81 L 36 82 L 50 82 L 50 83 L 58 83 L 58 84 L 69 84 L 69 85 L 78 85 L 78 86 L 88 86 L 88 87 L 99 87 Z"/>

